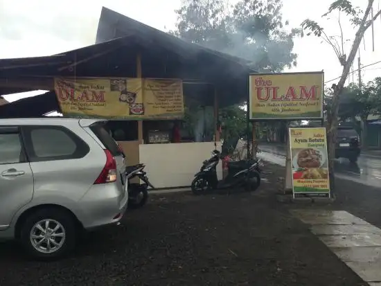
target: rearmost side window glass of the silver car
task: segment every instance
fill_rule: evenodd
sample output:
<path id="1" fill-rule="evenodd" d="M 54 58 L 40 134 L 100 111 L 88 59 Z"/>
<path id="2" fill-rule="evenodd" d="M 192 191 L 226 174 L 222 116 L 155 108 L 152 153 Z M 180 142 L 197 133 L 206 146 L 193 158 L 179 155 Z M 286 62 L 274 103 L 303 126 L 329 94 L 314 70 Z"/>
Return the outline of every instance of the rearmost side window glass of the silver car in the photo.
<path id="1" fill-rule="evenodd" d="M 32 129 L 30 137 L 35 155 L 39 158 L 69 156 L 76 152 L 76 143 L 60 129 Z"/>

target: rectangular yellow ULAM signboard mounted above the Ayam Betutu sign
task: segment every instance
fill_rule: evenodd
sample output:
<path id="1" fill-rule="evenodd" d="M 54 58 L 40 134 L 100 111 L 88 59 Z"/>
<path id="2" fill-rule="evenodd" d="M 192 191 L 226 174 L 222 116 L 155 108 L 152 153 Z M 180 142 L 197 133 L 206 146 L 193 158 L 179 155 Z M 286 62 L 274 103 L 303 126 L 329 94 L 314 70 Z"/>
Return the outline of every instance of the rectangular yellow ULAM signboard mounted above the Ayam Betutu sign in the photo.
<path id="1" fill-rule="evenodd" d="M 323 118 L 324 73 L 256 73 L 249 78 L 252 120 Z"/>

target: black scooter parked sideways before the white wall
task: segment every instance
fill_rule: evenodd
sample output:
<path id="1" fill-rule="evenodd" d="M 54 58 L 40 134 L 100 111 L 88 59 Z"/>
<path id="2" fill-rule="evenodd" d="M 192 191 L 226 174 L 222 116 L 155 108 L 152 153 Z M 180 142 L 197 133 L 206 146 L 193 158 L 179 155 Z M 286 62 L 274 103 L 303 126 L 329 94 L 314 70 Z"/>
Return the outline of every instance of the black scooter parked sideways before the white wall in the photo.
<path id="1" fill-rule="evenodd" d="M 193 193 L 200 195 L 206 190 L 222 188 L 227 188 L 230 193 L 231 188 L 243 187 L 246 190 L 256 190 L 260 186 L 260 160 L 230 161 L 227 177 L 218 181 L 216 167 L 222 159 L 221 154 L 218 150 L 213 150 L 211 153 L 212 157 L 202 163 L 200 172 L 197 172 L 192 181 Z"/>

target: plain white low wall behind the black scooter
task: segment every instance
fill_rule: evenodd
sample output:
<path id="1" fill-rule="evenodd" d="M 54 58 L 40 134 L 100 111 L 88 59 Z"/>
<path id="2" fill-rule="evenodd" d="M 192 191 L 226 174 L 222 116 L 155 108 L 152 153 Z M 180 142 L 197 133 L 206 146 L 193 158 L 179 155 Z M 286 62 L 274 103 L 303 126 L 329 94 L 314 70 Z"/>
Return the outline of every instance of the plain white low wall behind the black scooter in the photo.
<path id="1" fill-rule="evenodd" d="M 222 144 L 217 143 L 221 151 Z M 202 161 L 211 157 L 213 142 L 143 144 L 139 145 L 139 161 L 145 163 L 150 182 L 155 188 L 190 186 Z M 222 161 L 217 166 L 222 179 Z"/>

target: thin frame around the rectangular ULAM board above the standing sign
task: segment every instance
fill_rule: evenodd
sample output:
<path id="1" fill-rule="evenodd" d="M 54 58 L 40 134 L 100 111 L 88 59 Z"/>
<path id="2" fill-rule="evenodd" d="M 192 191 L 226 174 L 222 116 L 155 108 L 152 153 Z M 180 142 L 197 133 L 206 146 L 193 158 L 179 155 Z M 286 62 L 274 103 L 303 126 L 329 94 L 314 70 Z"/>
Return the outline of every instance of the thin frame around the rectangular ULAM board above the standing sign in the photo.
<path id="1" fill-rule="evenodd" d="M 321 107 L 320 107 L 320 116 L 299 116 L 299 117 L 253 117 L 253 107 L 252 107 L 252 87 L 253 87 L 253 78 L 258 76 L 266 75 L 308 75 L 308 74 L 317 74 L 321 73 Z M 266 120 L 321 120 L 324 118 L 324 71 L 303 71 L 303 72 L 292 72 L 292 73 L 250 73 L 249 74 L 249 120 L 251 121 L 266 121 Z"/>

